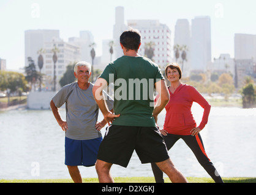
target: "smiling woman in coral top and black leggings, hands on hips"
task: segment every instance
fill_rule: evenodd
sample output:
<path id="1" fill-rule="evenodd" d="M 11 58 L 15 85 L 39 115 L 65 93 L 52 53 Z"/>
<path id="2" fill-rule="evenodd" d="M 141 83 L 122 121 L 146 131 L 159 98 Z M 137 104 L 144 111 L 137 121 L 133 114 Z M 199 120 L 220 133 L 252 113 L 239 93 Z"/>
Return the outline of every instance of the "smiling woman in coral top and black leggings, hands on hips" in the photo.
<path id="1" fill-rule="evenodd" d="M 194 87 L 180 82 L 182 73 L 179 65 L 167 65 L 165 74 L 171 83 L 168 87 L 170 101 L 165 106 L 164 129 L 160 130 L 160 132 L 164 137 L 167 149 L 170 150 L 176 141 L 180 138 L 183 139 L 214 182 L 222 183 L 223 181 L 216 168 L 214 168 L 213 163 L 206 155 L 199 133 L 208 122 L 211 105 Z M 197 102 L 204 109 L 203 118 L 199 126 L 197 126 L 191 112 L 193 102 Z M 151 166 L 156 182 L 164 182 L 163 172 L 160 171 L 156 164 L 152 163 Z"/>

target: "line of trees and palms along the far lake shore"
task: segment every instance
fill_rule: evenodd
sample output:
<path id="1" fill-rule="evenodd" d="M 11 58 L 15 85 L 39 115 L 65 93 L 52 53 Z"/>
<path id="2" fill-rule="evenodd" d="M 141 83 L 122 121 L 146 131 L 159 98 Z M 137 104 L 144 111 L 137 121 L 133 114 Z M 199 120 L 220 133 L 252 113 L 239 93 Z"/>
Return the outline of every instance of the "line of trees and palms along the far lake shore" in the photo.
<path id="1" fill-rule="evenodd" d="M 112 60 L 113 55 L 113 46 L 115 43 L 113 41 L 110 41 L 110 60 Z M 95 57 L 95 43 L 92 43 L 89 47 L 91 47 L 91 58 L 92 58 L 92 76 L 91 76 L 91 82 L 93 82 L 92 78 L 97 78 L 101 71 L 99 69 L 94 70 L 93 64 L 94 64 L 94 57 Z M 174 46 L 175 51 L 175 58 L 176 60 L 179 59 L 180 52 L 181 52 L 181 59 L 182 59 L 182 68 L 184 61 L 187 61 L 186 51 L 188 51 L 187 46 L 179 46 L 178 44 Z M 58 49 L 53 49 L 54 54 L 56 55 L 56 52 L 58 52 Z M 37 52 L 39 54 L 39 69 L 42 69 L 43 66 L 43 58 L 42 53 L 43 50 L 40 49 L 40 51 Z M 149 59 L 153 60 L 154 57 L 154 43 L 149 42 L 145 43 L 145 56 Z M 54 57 L 53 57 L 54 58 Z M 10 90 L 10 93 L 13 93 L 15 91 L 30 91 L 32 88 L 36 89 L 39 85 L 39 89 L 41 89 L 42 78 L 43 74 L 38 72 L 36 69 L 36 65 L 34 63 L 34 60 L 31 59 L 31 57 L 28 58 L 29 65 L 24 68 L 25 76 L 21 73 L 15 73 L 15 72 L 8 72 L 8 71 L 0 71 L 0 90 L 6 91 L 7 89 Z M 61 87 L 64 85 L 67 85 L 69 83 L 75 82 L 75 76 L 73 75 L 73 66 L 74 63 L 70 63 L 66 66 L 66 72 L 62 76 L 61 80 L 59 80 L 59 83 Z M 165 75 L 164 71 L 163 74 Z M 213 93 L 218 94 L 224 94 L 226 101 L 228 101 L 228 98 L 236 91 L 233 76 L 228 73 L 224 73 L 221 75 L 218 75 L 217 73 L 211 73 L 210 76 L 207 76 L 206 73 L 200 73 L 200 74 L 194 74 L 192 73 L 190 77 L 186 77 L 182 79 L 182 82 L 187 83 L 189 85 L 192 85 L 197 88 L 200 93 L 207 93 L 209 96 Z M 56 84 L 55 84 L 56 85 Z M 39 90 L 40 91 L 40 90 Z M 244 79 L 244 87 L 241 88 L 239 93 L 243 96 L 243 107 L 256 107 L 256 87 L 254 84 L 254 80 L 252 80 L 250 77 L 246 77 Z"/>

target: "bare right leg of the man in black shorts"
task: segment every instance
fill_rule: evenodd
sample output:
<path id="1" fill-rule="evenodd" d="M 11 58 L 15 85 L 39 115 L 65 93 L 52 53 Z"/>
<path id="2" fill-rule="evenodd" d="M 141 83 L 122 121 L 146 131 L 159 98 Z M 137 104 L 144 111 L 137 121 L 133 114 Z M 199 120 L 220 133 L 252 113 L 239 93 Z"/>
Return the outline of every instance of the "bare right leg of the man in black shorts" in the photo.
<path id="1" fill-rule="evenodd" d="M 178 169 L 175 168 L 170 158 L 165 161 L 156 163 L 156 165 L 170 178 L 173 183 L 188 183 L 186 177 L 183 176 Z"/>

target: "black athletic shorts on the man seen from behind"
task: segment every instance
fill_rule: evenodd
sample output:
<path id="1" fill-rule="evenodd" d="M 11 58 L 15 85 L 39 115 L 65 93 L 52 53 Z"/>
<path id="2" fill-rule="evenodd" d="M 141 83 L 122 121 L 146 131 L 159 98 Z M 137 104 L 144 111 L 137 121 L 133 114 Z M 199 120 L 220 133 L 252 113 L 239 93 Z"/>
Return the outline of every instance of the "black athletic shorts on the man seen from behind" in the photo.
<path id="1" fill-rule="evenodd" d="M 157 127 L 110 126 L 100 144 L 97 159 L 127 167 L 136 151 L 141 163 L 169 158 L 164 138 Z"/>

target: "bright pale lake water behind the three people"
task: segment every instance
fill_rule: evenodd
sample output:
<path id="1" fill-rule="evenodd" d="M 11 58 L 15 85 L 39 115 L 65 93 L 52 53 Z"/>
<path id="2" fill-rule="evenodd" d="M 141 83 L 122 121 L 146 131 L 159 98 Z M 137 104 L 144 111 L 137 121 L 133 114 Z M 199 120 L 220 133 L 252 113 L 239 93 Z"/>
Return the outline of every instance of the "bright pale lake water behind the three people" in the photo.
<path id="1" fill-rule="evenodd" d="M 193 113 L 200 122 L 203 109 L 195 104 Z M 65 110 L 61 115 L 65 117 Z M 160 127 L 164 117 L 165 111 L 159 115 Z M 256 177 L 256 108 L 212 107 L 201 137 L 206 154 L 222 177 Z M 169 154 L 184 176 L 209 177 L 183 140 Z M 97 177 L 94 167 L 80 167 L 80 172 L 82 177 Z M 141 165 L 135 153 L 127 168 L 113 165 L 111 174 L 153 177 L 151 166 Z M 51 110 L 0 112 L 0 179 L 66 178 L 70 176 L 64 165 L 64 132 Z"/>

